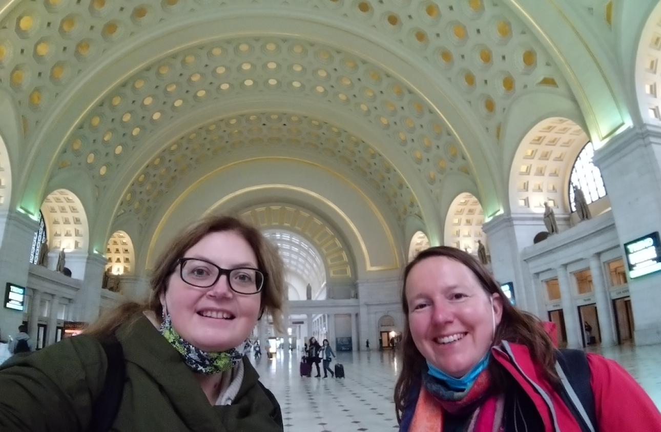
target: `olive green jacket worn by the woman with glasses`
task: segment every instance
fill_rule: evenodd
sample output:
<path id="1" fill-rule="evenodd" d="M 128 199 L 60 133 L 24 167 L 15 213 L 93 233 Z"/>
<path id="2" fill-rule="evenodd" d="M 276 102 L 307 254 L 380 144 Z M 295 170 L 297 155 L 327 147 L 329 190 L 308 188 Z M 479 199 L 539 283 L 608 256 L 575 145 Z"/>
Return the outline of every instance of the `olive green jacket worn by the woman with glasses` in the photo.
<path id="1" fill-rule="evenodd" d="M 193 372 L 141 316 L 116 335 L 126 382 L 113 431 L 282 431 L 280 406 L 248 359 L 239 393 L 212 406 Z M 0 367 L 0 431 L 86 431 L 103 387 L 106 354 L 97 339 L 69 337 Z"/>

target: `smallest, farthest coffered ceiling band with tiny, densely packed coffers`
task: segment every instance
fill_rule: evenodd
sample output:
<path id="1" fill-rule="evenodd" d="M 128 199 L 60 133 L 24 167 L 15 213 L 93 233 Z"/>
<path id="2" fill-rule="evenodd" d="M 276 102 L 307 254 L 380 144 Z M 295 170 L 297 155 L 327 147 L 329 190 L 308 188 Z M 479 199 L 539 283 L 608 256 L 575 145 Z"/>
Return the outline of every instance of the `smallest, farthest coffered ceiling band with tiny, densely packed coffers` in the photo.
<path id="1" fill-rule="evenodd" d="M 367 181 L 391 205 L 398 220 L 420 214 L 407 182 L 372 146 L 317 118 L 282 112 L 232 116 L 186 132 L 137 173 L 118 214 L 132 212 L 148 218 L 159 198 L 201 165 L 217 166 L 235 154 L 259 155 L 264 151 L 303 157 L 321 153 L 325 165 L 348 167 Z"/>

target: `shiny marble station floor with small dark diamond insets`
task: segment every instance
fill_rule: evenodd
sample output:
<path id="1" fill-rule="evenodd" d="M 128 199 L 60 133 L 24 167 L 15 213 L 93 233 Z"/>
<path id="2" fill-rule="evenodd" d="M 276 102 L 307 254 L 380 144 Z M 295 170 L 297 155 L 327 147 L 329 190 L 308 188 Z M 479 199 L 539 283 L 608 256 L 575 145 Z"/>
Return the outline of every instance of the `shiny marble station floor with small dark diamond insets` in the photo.
<path id="1" fill-rule="evenodd" d="M 661 345 L 590 351 L 619 361 L 661 408 Z M 301 377 L 299 355 L 279 351 L 276 359 L 262 358 L 256 364 L 262 383 L 280 401 L 285 432 L 397 429 L 392 401 L 401 365 L 391 351 L 338 353 L 346 375 L 340 380 Z"/>

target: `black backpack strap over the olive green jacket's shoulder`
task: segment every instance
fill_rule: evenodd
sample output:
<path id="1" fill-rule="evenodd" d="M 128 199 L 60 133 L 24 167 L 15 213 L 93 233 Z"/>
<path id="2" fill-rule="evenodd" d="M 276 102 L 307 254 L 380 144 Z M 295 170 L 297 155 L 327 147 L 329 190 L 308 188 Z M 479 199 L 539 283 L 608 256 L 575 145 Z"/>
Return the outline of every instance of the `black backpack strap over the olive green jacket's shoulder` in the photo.
<path id="1" fill-rule="evenodd" d="M 87 429 L 90 432 L 110 430 L 120 409 L 126 379 L 124 351 L 122 351 L 120 342 L 113 337 L 106 341 L 99 341 L 99 343 L 106 352 L 108 369 L 103 388 L 92 406 L 92 421 Z"/>

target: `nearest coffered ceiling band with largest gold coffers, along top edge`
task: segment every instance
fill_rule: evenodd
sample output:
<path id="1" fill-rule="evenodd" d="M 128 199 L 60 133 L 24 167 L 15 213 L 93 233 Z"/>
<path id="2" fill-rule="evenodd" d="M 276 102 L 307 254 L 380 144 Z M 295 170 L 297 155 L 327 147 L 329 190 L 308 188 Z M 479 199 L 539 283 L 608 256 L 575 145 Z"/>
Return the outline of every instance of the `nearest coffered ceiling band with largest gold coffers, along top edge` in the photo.
<path id="1" fill-rule="evenodd" d="M 5 46 L 1 73 L 11 83 L 23 109 L 26 133 L 38 127 L 34 112 L 48 108 L 61 92 L 58 85 L 75 81 L 78 70 L 129 36 L 140 38 L 149 30 L 176 25 L 185 18 L 227 15 L 240 7 L 286 7 L 290 13 L 346 22 L 376 32 L 384 44 L 401 45 L 428 63 L 438 75 L 463 86 L 463 98 L 496 133 L 498 115 L 520 89 L 535 85 L 563 85 L 561 73 L 510 9 L 483 0 L 461 2 L 278 1 L 277 5 L 244 1 L 145 1 L 134 7 L 117 2 L 16 2 L 0 35 Z M 215 30 L 217 32 L 217 28 Z M 56 56 L 55 53 L 58 52 Z M 59 55 L 59 53 L 63 55 Z M 249 50 L 237 55 L 251 54 Z"/>

